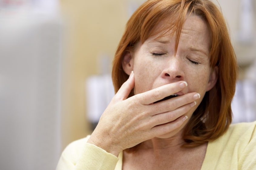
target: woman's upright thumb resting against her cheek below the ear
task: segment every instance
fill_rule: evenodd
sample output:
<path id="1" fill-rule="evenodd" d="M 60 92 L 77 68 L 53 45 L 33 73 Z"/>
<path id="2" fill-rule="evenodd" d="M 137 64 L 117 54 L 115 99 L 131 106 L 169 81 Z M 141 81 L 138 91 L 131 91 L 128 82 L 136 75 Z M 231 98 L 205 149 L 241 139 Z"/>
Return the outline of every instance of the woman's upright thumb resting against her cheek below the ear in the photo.
<path id="1" fill-rule="evenodd" d="M 115 95 L 116 99 L 125 100 L 134 87 L 134 72 L 132 71 L 129 78 L 122 84 Z"/>

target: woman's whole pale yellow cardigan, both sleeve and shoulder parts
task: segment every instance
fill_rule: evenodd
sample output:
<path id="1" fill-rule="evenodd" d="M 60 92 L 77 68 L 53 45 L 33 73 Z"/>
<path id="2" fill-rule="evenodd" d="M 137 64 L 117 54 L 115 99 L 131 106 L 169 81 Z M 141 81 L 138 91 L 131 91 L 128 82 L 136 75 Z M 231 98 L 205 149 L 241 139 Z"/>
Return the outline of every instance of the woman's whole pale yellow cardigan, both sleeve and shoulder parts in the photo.
<path id="1" fill-rule="evenodd" d="M 86 143 L 89 137 L 74 141 L 66 147 L 57 170 L 122 169 L 123 152 L 117 158 Z M 256 121 L 232 124 L 224 135 L 209 142 L 201 169 L 256 169 Z"/>

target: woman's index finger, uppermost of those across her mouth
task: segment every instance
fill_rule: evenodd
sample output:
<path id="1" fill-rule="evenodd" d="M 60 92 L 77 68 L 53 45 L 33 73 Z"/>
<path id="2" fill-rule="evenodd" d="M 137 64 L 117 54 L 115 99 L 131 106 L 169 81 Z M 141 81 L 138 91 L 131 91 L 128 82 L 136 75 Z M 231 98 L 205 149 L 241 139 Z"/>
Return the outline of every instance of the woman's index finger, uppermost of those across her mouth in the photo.
<path id="1" fill-rule="evenodd" d="M 143 105 L 149 105 L 153 102 L 161 100 L 167 96 L 178 93 L 184 89 L 188 84 L 185 81 L 178 81 L 175 83 L 166 84 L 157 87 L 153 90 L 149 90 L 144 93 L 138 94 L 138 101 Z"/>

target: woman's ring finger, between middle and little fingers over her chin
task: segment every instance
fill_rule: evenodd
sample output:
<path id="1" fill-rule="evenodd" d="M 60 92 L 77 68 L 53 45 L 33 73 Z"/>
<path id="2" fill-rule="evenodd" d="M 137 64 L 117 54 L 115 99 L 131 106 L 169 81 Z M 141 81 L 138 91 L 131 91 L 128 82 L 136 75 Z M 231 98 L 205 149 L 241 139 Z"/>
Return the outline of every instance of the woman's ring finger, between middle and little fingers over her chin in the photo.
<path id="1" fill-rule="evenodd" d="M 186 114 L 187 112 L 189 112 L 189 110 L 192 107 L 194 107 L 195 105 L 196 105 L 196 102 L 194 101 L 194 102 L 191 102 L 189 104 L 183 105 L 183 106 L 181 106 L 178 109 L 175 109 L 173 111 L 161 113 L 161 114 L 158 114 L 158 115 L 154 115 L 154 116 L 151 117 L 151 121 L 149 123 L 151 123 L 152 127 L 160 125 L 160 124 L 169 123 L 171 121 L 176 120 L 180 116 Z"/>

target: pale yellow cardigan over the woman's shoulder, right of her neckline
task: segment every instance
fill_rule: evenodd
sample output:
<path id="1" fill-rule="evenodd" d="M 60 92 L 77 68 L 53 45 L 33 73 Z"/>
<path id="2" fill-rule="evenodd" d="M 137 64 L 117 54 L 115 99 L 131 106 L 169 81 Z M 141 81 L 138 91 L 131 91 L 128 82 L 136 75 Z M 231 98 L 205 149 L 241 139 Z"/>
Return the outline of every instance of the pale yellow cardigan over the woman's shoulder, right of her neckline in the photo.
<path id="1" fill-rule="evenodd" d="M 256 121 L 231 124 L 208 143 L 202 169 L 256 169 Z"/>

